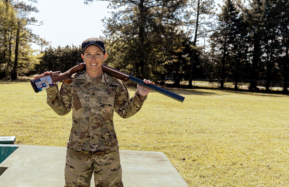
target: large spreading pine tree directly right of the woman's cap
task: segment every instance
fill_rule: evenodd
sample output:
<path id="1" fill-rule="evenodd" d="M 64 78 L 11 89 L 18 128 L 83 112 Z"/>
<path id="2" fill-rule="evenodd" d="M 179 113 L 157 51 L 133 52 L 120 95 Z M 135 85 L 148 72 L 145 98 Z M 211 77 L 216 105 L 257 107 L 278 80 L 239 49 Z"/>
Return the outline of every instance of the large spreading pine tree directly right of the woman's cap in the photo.
<path id="1" fill-rule="evenodd" d="M 109 52 L 106 63 L 139 78 L 157 79 L 167 62 L 165 52 L 176 46 L 185 3 L 185 0 L 110 1 L 109 7 L 116 12 L 103 20 Z"/>

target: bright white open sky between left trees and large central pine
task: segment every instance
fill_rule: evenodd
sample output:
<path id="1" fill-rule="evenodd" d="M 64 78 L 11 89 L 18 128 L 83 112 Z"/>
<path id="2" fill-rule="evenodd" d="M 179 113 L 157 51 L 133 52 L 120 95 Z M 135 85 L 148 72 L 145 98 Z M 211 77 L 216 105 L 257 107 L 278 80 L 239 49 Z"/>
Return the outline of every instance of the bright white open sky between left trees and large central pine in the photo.
<path id="1" fill-rule="evenodd" d="M 111 12 L 106 1 L 94 1 L 90 5 L 85 5 L 84 0 L 24 2 L 39 10 L 38 13 L 31 13 L 29 16 L 36 18 L 38 22 L 43 21 L 41 26 L 27 27 L 32 29 L 32 33 L 51 42 L 50 45 L 54 48 L 72 44 L 78 46 L 89 37 L 104 36 L 102 30 L 105 28 L 101 20 L 110 17 L 108 11 Z M 40 49 L 36 44 L 33 44 L 32 48 Z"/>

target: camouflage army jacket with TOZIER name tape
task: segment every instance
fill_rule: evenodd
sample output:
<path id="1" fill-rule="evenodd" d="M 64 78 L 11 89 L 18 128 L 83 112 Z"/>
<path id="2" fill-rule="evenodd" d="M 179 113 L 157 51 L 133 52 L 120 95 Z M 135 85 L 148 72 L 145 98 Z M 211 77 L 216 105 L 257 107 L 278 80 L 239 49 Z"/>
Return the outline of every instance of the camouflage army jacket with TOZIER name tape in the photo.
<path id="1" fill-rule="evenodd" d="M 84 73 L 72 75 L 70 84 L 63 83 L 46 89 L 47 104 L 58 115 L 72 108 L 72 127 L 67 148 L 76 151 L 114 151 L 118 141 L 114 130 L 114 111 L 122 118 L 136 114 L 147 96 L 138 91 L 132 98 L 125 84 L 104 73 L 92 80 Z"/>

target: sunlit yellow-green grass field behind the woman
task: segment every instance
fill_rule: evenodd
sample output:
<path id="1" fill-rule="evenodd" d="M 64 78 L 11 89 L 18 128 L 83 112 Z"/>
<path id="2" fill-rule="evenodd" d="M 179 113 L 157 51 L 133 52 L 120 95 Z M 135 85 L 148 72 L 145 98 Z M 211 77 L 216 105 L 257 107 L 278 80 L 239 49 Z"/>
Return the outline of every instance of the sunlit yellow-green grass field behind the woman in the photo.
<path id="1" fill-rule="evenodd" d="M 190 187 L 289 186 L 288 95 L 170 90 L 184 103 L 151 92 L 135 116 L 115 115 L 120 149 L 164 152 Z M 71 113 L 55 114 L 45 91 L 0 81 L 0 95 L 0 136 L 66 146 Z"/>

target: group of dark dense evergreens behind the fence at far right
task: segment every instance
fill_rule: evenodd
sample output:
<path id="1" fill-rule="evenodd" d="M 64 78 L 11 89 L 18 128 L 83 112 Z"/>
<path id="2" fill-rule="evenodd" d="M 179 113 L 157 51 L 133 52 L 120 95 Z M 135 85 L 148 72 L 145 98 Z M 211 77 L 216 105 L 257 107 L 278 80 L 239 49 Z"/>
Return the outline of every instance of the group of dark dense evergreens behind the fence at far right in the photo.
<path id="1" fill-rule="evenodd" d="M 235 88 L 238 80 L 251 80 L 250 90 L 258 89 L 256 80 L 282 81 L 288 92 L 289 2 L 233 2 L 225 2 L 210 36 L 216 78 L 236 80 Z"/>

